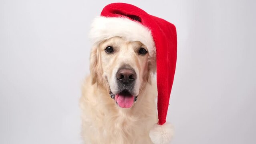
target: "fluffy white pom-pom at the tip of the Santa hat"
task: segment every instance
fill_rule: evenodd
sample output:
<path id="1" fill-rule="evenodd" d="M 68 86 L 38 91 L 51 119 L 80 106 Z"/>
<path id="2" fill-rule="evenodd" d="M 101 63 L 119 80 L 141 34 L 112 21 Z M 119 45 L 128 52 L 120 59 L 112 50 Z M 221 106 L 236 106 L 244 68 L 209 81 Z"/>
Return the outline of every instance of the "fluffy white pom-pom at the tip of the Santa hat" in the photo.
<path id="1" fill-rule="evenodd" d="M 149 137 L 153 144 L 169 144 L 173 137 L 173 125 L 168 122 L 163 125 L 154 124 L 149 131 Z"/>

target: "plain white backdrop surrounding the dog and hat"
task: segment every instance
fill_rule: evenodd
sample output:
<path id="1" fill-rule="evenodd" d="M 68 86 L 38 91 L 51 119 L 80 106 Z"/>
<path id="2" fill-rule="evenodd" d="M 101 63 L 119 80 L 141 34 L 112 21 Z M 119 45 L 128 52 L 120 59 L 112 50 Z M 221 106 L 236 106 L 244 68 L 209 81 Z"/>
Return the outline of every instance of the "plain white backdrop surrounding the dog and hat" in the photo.
<path id="1" fill-rule="evenodd" d="M 111 2 L 0 0 L 0 144 L 81 144 L 88 32 Z M 255 144 L 255 0 L 126 2 L 177 27 L 172 144 Z"/>

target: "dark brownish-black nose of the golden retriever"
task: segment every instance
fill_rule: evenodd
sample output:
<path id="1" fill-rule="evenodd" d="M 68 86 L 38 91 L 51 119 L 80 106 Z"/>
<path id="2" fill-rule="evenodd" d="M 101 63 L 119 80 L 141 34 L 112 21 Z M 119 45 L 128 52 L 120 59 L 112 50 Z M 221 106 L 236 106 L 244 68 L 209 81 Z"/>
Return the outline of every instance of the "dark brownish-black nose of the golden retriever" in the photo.
<path id="1" fill-rule="evenodd" d="M 123 68 L 117 72 L 117 80 L 123 84 L 131 84 L 136 79 L 136 73 L 134 70 Z"/>

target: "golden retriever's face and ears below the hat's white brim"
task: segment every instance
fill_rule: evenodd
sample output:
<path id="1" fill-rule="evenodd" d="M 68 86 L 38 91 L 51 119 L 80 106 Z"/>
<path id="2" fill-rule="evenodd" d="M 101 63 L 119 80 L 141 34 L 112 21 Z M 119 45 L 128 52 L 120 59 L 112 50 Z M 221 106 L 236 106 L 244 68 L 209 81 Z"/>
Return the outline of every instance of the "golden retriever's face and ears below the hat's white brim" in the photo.
<path id="1" fill-rule="evenodd" d="M 121 108 L 133 106 L 143 84 L 149 82 L 149 73 L 149 53 L 139 41 L 113 37 L 92 50 L 93 83 L 110 88 L 112 98 Z"/>

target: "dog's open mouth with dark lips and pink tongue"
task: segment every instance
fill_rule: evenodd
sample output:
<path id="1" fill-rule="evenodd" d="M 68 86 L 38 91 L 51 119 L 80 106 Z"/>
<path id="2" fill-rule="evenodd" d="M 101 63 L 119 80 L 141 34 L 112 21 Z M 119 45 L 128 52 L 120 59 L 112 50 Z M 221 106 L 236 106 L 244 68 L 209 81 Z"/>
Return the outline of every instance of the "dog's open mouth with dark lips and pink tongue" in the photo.
<path id="1" fill-rule="evenodd" d="M 118 94 L 113 94 L 110 90 L 109 94 L 121 108 L 131 108 L 137 101 L 137 96 L 133 96 L 128 90 L 123 90 Z"/>

